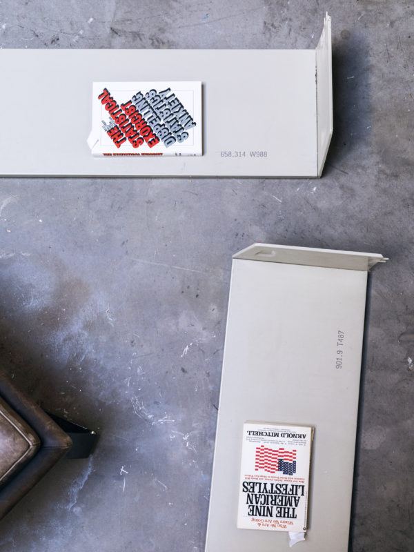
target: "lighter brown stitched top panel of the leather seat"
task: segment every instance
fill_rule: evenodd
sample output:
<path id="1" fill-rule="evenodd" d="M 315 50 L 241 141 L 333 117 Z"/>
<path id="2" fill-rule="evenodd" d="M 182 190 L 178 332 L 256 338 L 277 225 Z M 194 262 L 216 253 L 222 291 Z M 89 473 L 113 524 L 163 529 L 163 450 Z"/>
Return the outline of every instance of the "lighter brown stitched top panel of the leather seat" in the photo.
<path id="1" fill-rule="evenodd" d="M 39 446 L 36 433 L 0 397 L 0 486 L 23 468 Z"/>

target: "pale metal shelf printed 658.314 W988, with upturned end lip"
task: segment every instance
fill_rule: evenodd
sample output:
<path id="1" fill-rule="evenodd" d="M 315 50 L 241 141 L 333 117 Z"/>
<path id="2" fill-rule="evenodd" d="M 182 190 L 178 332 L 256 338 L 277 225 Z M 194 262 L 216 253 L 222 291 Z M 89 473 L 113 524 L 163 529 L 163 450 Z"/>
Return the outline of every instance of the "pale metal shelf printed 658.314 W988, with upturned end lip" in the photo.
<path id="1" fill-rule="evenodd" d="M 318 177 L 331 18 L 309 50 L 0 50 L 1 176 Z M 316 75 L 316 79 L 315 79 Z M 91 155 L 94 81 L 201 81 L 203 155 Z"/>

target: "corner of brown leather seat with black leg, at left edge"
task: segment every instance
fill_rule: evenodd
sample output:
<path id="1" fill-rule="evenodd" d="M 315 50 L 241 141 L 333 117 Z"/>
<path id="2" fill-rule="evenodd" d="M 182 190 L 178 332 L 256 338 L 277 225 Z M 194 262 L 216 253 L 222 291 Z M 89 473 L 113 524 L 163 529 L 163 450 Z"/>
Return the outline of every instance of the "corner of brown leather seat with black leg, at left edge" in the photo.
<path id="1" fill-rule="evenodd" d="M 97 435 L 86 428 L 65 423 L 69 431 L 71 426 L 75 428 L 73 435 L 80 433 L 81 437 L 88 437 L 88 453 L 77 455 L 86 457 Z M 71 446 L 68 433 L 0 372 L 0 519 Z"/>

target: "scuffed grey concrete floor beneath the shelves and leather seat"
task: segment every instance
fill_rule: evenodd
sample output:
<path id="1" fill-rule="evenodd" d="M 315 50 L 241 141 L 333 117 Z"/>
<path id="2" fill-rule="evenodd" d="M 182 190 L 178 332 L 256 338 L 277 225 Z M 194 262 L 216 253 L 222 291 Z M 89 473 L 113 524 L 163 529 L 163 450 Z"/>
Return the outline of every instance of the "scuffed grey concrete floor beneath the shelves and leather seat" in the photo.
<path id="1" fill-rule="evenodd" d="M 413 549 L 412 3 L 2 0 L 0 46 L 313 48 L 325 10 L 322 179 L 0 180 L 1 364 L 101 433 L 0 524 L 1 552 L 203 550 L 231 255 L 253 242 L 391 257 L 372 276 L 352 543 Z"/>

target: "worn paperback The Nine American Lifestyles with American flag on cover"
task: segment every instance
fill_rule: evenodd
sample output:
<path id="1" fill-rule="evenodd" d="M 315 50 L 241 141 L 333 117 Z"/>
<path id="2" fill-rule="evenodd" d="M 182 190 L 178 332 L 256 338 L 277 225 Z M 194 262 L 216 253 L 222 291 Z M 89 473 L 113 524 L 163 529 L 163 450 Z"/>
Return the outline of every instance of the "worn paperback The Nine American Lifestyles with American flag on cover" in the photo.
<path id="1" fill-rule="evenodd" d="M 244 424 L 239 529 L 306 531 L 312 439 L 308 426 Z"/>

